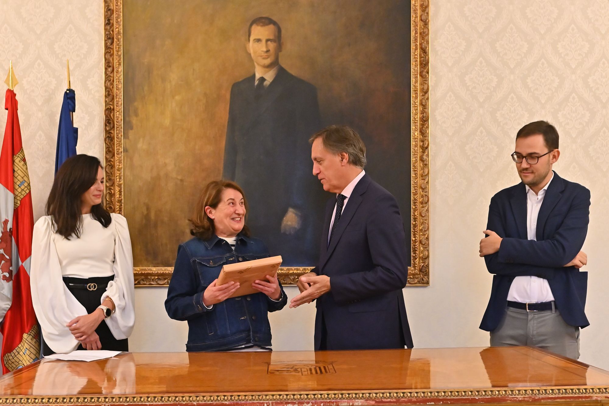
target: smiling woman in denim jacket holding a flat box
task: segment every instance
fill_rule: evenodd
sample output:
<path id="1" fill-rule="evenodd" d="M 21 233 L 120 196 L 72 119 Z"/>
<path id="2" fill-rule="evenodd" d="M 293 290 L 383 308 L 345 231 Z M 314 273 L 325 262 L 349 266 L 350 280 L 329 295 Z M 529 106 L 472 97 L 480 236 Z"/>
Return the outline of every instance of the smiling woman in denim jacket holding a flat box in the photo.
<path id="1" fill-rule="evenodd" d="M 212 181 L 201 192 L 189 220 L 195 237 L 178 247 L 165 301 L 169 317 L 188 321 L 186 351 L 270 351 L 268 312 L 287 303 L 276 276 L 253 282 L 259 293 L 236 298 L 228 296 L 238 283 L 216 286 L 223 265 L 269 257 L 266 245 L 250 237 L 246 212 L 236 183 Z"/>

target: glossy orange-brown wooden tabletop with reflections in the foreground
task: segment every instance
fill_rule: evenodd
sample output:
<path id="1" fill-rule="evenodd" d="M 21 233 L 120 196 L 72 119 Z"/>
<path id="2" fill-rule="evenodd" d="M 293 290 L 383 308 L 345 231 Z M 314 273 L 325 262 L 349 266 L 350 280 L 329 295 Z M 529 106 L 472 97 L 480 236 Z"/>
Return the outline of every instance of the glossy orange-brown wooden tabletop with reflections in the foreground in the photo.
<path id="1" fill-rule="evenodd" d="M 609 387 L 609 373 L 530 347 L 124 353 L 42 360 L 0 378 L 0 397 Z"/>

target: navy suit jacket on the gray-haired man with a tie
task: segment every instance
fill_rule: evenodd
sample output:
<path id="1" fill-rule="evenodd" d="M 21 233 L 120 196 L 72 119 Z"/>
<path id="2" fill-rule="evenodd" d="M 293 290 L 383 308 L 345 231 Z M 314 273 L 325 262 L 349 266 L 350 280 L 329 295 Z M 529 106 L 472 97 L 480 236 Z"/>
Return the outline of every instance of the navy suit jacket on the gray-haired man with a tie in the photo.
<path id="1" fill-rule="evenodd" d="M 392 194 L 368 175 L 347 200 L 328 247 L 336 198 L 326 205 L 318 275 L 330 292 L 315 301 L 315 349 L 412 348 L 404 306 L 408 278 L 404 224 Z"/>

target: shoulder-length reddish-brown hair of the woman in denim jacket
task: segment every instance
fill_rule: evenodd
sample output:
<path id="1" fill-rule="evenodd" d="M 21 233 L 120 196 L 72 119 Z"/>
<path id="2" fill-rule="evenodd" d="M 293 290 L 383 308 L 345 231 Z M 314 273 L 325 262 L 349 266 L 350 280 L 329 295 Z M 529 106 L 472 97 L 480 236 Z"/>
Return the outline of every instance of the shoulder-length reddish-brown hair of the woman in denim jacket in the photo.
<path id="1" fill-rule="evenodd" d="M 195 237 L 199 237 L 202 240 L 209 240 L 211 237 L 216 234 L 216 227 L 214 226 L 214 220 L 210 219 L 207 213 L 205 212 L 205 207 L 209 206 L 213 209 L 216 209 L 220 204 L 220 197 L 222 196 L 222 191 L 225 189 L 234 189 L 241 193 L 243 196 L 243 204 L 245 206 L 245 215 L 243 217 L 244 223 L 247 219 L 248 205 L 247 199 L 245 198 L 245 194 L 243 193 L 243 189 L 241 187 L 230 181 L 230 180 L 214 180 L 209 182 L 203 187 L 203 191 L 199 195 L 199 200 L 197 200 L 197 204 L 194 206 L 194 212 L 192 213 L 191 219 L 188 219 L 192 224 L 191 234 Z M 241 233 L 246 237 L 250 236 L 250 229 L 247 225 L 243 226 Z"/>

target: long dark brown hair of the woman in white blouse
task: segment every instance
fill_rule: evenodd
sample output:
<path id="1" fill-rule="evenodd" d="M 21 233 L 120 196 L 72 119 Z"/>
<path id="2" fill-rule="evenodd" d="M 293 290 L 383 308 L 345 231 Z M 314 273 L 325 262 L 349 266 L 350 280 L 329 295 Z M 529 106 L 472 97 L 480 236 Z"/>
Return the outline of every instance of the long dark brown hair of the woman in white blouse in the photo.
<path id="1" fill-rule="evenodd" d="M 71 236 L 80 238 L 82 232 L 82 195 L 97 180 L 97 170 L 102 167 L 95 156 L 79 154 L 71 156 L 59 167 L 49 199 L 46 201 L 46 214 L 55 223 L 55 232 L 66 239 Z M 110 213 L 102 203 L 91 207 L 91 216 L 108 227 L 112 222 Z"/>

